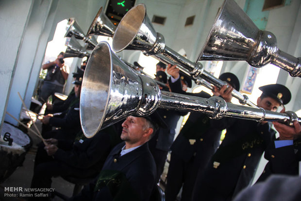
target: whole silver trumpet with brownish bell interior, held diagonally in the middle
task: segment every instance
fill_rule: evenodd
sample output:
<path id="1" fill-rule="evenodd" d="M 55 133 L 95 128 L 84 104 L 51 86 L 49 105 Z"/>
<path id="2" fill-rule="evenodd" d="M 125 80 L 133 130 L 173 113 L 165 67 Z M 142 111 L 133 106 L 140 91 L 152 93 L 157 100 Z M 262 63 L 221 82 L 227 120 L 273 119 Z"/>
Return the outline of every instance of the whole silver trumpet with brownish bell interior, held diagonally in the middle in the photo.
<path id="1" fill-rule="evenodd" d="M 144 4 L 138 4 L 129 10 L 121 19 L 113 36 L 112 48 L 118 52 L 121 50 L 142 50 L 147 54 L 167 61 L 170 64 L 176 64 L 185 73 L 196 79 L 204 79 L 207 82 L 220 88 L 227 84 L 205 71 L 201 63 L 194 63 L 186 59 L 174 50 L 165 45 L 164 36 L 155 32 L 151 25 L 149 17 L 146 15 Z M 202 84 L 203 82 L 200 82 Z M 206 85 L 205 85 L 206 86 Z M 232 95 L 239 100 L 241 104 L 248 104 L 256 107 L 249 98 L 242 95 L 235 89 Z"/>

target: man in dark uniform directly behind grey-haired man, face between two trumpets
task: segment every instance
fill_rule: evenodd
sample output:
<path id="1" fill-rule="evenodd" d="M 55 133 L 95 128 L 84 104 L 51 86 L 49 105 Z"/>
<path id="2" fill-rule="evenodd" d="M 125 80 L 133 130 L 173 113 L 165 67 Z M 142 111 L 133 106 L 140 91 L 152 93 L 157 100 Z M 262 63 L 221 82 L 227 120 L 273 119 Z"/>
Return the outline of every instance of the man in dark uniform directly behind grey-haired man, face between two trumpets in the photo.
<path id="1" fill-rule="evenodd" d="M 161 83 L 167 84 L 167 74 L 164 71 L 157 71 L 156 80 Z M 160 90 L 164 90 L 162 86 L 159 85 Z M 175 136 L 175 129 L 177 123 L 181 116 L 186 115 L 186 112 L 179 112 L 176 110 L 169 109 L 157 109 L 156 110 L 160 117 L 164 119 L 164 122 L 168 125 L 168 128 L 159 128 L 159 130 L 154 134 L 154 136 L 149 141 L 149 147 L 152 156 L 155 159 L 157 176 L 156 182 L 159 181 L 160 176 L 164 170 L 164 165 L 167 158 L 167 153 L 173 142 Z"/>

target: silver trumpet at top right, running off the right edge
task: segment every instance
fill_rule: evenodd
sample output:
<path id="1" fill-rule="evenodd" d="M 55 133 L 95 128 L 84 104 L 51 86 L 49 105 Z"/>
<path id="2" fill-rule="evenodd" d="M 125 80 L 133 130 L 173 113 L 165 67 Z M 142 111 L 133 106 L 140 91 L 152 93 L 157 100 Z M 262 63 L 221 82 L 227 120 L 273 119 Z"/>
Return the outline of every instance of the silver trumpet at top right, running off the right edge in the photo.
<path id="1" fill-rule="evenodd" d="M 223 2 L 198 60 L 244 60 L 252 67 L 273 64 L 301 77 L 301 57 L 279 50 L 275 35 L 259 30 L 234 0 Z"/>

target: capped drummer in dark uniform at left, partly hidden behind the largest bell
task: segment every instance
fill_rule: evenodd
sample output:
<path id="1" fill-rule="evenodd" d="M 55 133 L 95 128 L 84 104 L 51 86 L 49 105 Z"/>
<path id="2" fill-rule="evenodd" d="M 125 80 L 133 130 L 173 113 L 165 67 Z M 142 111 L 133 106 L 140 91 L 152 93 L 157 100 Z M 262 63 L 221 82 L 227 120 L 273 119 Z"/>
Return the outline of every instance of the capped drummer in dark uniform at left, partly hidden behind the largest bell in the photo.
<path id="1" fill-rule="evenodd" d="M 42 134 L 45 138 L 56 139 L 74 139 L 75 135 L 81 130 L 80 122 L 80 95 L 82 88 L 83 74 L 76 78 L 72 83 L 74 85 L 75 99 L 70 102 L 69 108 L 65 114 L 59 117 L 48 114 L 41 119 L 46 125 L 58 127 L 60 129 Z"/>

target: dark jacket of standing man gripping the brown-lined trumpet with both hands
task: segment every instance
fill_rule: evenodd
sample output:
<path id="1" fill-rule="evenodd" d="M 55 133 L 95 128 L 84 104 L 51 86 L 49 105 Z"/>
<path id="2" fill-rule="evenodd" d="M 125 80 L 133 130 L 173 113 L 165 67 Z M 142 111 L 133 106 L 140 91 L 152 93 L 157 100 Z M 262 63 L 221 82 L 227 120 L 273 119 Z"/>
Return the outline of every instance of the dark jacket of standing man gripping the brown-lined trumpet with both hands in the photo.
<path id="1" fill-rule="evenodd" d="M 169 82 L 171 90 L 189 96 L 201 98 L 210 98 L 211 96 L 201 91 L 200 93 L 187 93 L 182 90 L 180 79 L 175 83 Z M 206 158 L 206 161 L 217 150 L 222 128 L 215 123 L 215 120 L 209 119 L 201 113 L 191 113 L 180 134 L 171 147 L 172 154 L 177 154 L 184 161 L 188 162 L 196 152 L 202 152 L 200 158 Z M 202 151 L 201 151 L 202 150 Z M 203 150 L 206 150 L 203 152 Z"/>

